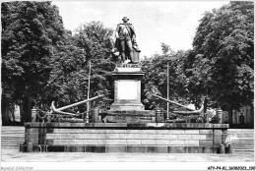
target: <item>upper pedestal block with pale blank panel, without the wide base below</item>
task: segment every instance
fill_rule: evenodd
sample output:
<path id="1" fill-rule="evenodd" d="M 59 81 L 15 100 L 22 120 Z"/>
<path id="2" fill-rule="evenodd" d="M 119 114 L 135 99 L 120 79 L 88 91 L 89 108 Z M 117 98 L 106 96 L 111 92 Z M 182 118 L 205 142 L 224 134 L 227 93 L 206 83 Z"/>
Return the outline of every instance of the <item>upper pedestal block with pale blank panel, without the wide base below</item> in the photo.
<path id="1" fill-rule="evenodd" d="M 114 79 L 114 103 L 110 111 L 144 110 L 141 103 L 141 80 L 144 72 L 139 65 L 116 66 L 112 72 Z"/>

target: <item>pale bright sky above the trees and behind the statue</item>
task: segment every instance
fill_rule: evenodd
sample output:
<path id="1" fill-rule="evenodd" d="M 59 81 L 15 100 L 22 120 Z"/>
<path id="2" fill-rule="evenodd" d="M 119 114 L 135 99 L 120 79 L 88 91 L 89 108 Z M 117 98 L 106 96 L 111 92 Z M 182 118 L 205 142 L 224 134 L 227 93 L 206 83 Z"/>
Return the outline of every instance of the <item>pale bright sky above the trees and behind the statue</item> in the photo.
<path id="1" fill-rule="evenodd" d="M 93 21 L 115 29 L 123 17 L 128 17 L 136 31 L 140 56 L 150 57 L 161 53 L 161 43 L 168 44 L 173 51 L 192 49 L 203 14 L 228 1 L 58 0 L 52 4 L 59 8 L 64 27 L 72 32 L 81 24 Z"/>

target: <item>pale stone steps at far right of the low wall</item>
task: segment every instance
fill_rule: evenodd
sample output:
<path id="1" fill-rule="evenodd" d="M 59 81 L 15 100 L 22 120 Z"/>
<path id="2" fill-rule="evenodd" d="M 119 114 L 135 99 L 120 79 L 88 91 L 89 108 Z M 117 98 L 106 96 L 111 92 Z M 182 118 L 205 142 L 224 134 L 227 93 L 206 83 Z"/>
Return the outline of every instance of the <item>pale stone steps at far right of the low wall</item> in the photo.
<path id="1" fill-rule="evenodd" d="M 228 129 L 226 142 L 232 145 L 234 152 L 254 152 L 254 130 Z"/>

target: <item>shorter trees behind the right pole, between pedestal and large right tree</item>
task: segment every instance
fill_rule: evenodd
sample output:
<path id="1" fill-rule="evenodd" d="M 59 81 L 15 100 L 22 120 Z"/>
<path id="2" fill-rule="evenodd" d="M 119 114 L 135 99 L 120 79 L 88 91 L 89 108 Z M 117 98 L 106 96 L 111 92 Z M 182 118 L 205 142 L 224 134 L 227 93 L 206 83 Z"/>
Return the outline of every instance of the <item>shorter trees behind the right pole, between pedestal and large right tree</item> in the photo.
<path id="1" fill-rule="evenodd" d="M 142 70 L 146 73 L 142 88 L 144 89 L 143 98 L 146 108 L 152 109 L 154 101 L 161 107 L 166 108 L 166 102 L 152 97 L 152 94 L 159 94 L 166 98 L 167 94 L 167 63 L 169 63 L 169 99 L 185 102 L 186 76 L 184 75 L 183 65 L 187 52 L 174 52 L 167 44 L 161 43 L 162 55 L 155 54 L 151 58 L 145 58 L 142 63 Z"/>

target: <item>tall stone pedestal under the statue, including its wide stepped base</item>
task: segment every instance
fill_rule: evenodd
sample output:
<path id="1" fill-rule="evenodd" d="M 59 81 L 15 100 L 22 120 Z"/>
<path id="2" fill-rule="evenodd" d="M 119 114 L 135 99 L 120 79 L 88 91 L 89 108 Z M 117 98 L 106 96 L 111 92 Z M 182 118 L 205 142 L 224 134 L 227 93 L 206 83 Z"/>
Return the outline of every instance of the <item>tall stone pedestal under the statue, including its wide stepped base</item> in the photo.
<path id="1" fill-rule="evenodd" d="M 137 64 L 117 65 L 112 72 L 114 102 L 104 118 L 106 123 L 153 123 L 155 111 L 145 110 L 141 102 L 141 81 L 144 72 Z"/>

